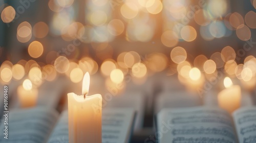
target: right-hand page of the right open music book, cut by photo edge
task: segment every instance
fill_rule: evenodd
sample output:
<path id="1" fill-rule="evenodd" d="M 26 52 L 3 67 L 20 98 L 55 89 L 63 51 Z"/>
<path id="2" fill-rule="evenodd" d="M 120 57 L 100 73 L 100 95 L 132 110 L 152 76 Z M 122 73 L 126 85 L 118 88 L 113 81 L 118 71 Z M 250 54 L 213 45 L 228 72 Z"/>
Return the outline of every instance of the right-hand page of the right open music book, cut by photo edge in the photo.
<path id="1" fill-rule="evenodd" d="M 256 142 L 256 107 L 244 107 L 233 112 L 239 142 Z"/>

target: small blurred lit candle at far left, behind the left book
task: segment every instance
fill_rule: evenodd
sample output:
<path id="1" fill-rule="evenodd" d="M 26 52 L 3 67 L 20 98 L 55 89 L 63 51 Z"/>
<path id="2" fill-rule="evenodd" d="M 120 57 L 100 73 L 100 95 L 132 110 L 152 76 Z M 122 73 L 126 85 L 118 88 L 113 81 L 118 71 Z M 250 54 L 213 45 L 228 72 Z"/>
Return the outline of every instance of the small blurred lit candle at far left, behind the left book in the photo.
<path id="1" fill-rule="evenodd" d="M 38 91 L 36 88 L 32 88 L 32 83 L 29 79 L 24 80 L 23 85 L 18 86 L 17 94 L 22 108 L 36 105 Z"/>

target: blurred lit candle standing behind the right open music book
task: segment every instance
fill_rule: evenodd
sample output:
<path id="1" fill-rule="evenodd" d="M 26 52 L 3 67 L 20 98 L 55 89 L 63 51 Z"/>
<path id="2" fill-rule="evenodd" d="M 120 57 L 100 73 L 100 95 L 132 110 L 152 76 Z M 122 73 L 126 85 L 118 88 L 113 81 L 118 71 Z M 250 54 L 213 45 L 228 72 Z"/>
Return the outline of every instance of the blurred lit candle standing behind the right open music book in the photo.
<path id="1" fill-rule="evenodd" d="M 219 106 L 232 113 L 240 107 L 241 88 L 239 85 L 233 85 L 231 79 L 228 77 L 224 79 L 224 86 L 226 89 L 218 94 Z"/>

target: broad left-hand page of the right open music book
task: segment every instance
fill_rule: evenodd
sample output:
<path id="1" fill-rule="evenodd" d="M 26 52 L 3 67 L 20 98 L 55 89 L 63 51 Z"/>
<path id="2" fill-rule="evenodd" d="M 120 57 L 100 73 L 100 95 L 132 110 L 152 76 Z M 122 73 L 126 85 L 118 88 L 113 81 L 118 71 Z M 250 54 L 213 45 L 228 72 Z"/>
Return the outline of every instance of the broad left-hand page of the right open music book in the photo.
<path id="1" fill-rule="evenodd" d="M 161 143 L 237 142 L 229 114 L 217 107 L 165 108 L 157 115 Z"/>

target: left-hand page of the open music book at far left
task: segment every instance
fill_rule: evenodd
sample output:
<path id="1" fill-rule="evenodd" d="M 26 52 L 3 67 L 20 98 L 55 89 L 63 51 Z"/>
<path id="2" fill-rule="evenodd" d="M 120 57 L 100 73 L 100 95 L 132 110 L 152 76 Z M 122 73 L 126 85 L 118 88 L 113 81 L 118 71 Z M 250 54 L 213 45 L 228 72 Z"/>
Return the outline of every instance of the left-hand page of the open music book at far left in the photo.
<path id="1" fill-rule="evenodd" d="M 11 110 L 8 114 L 8 124 L 1 123 L 0 129 L 3 131 L 8 126 L 8 132 L 0 134 L 0 142 L 45 142 L 57 117 L 58 113 L 50 108 Z"/>

